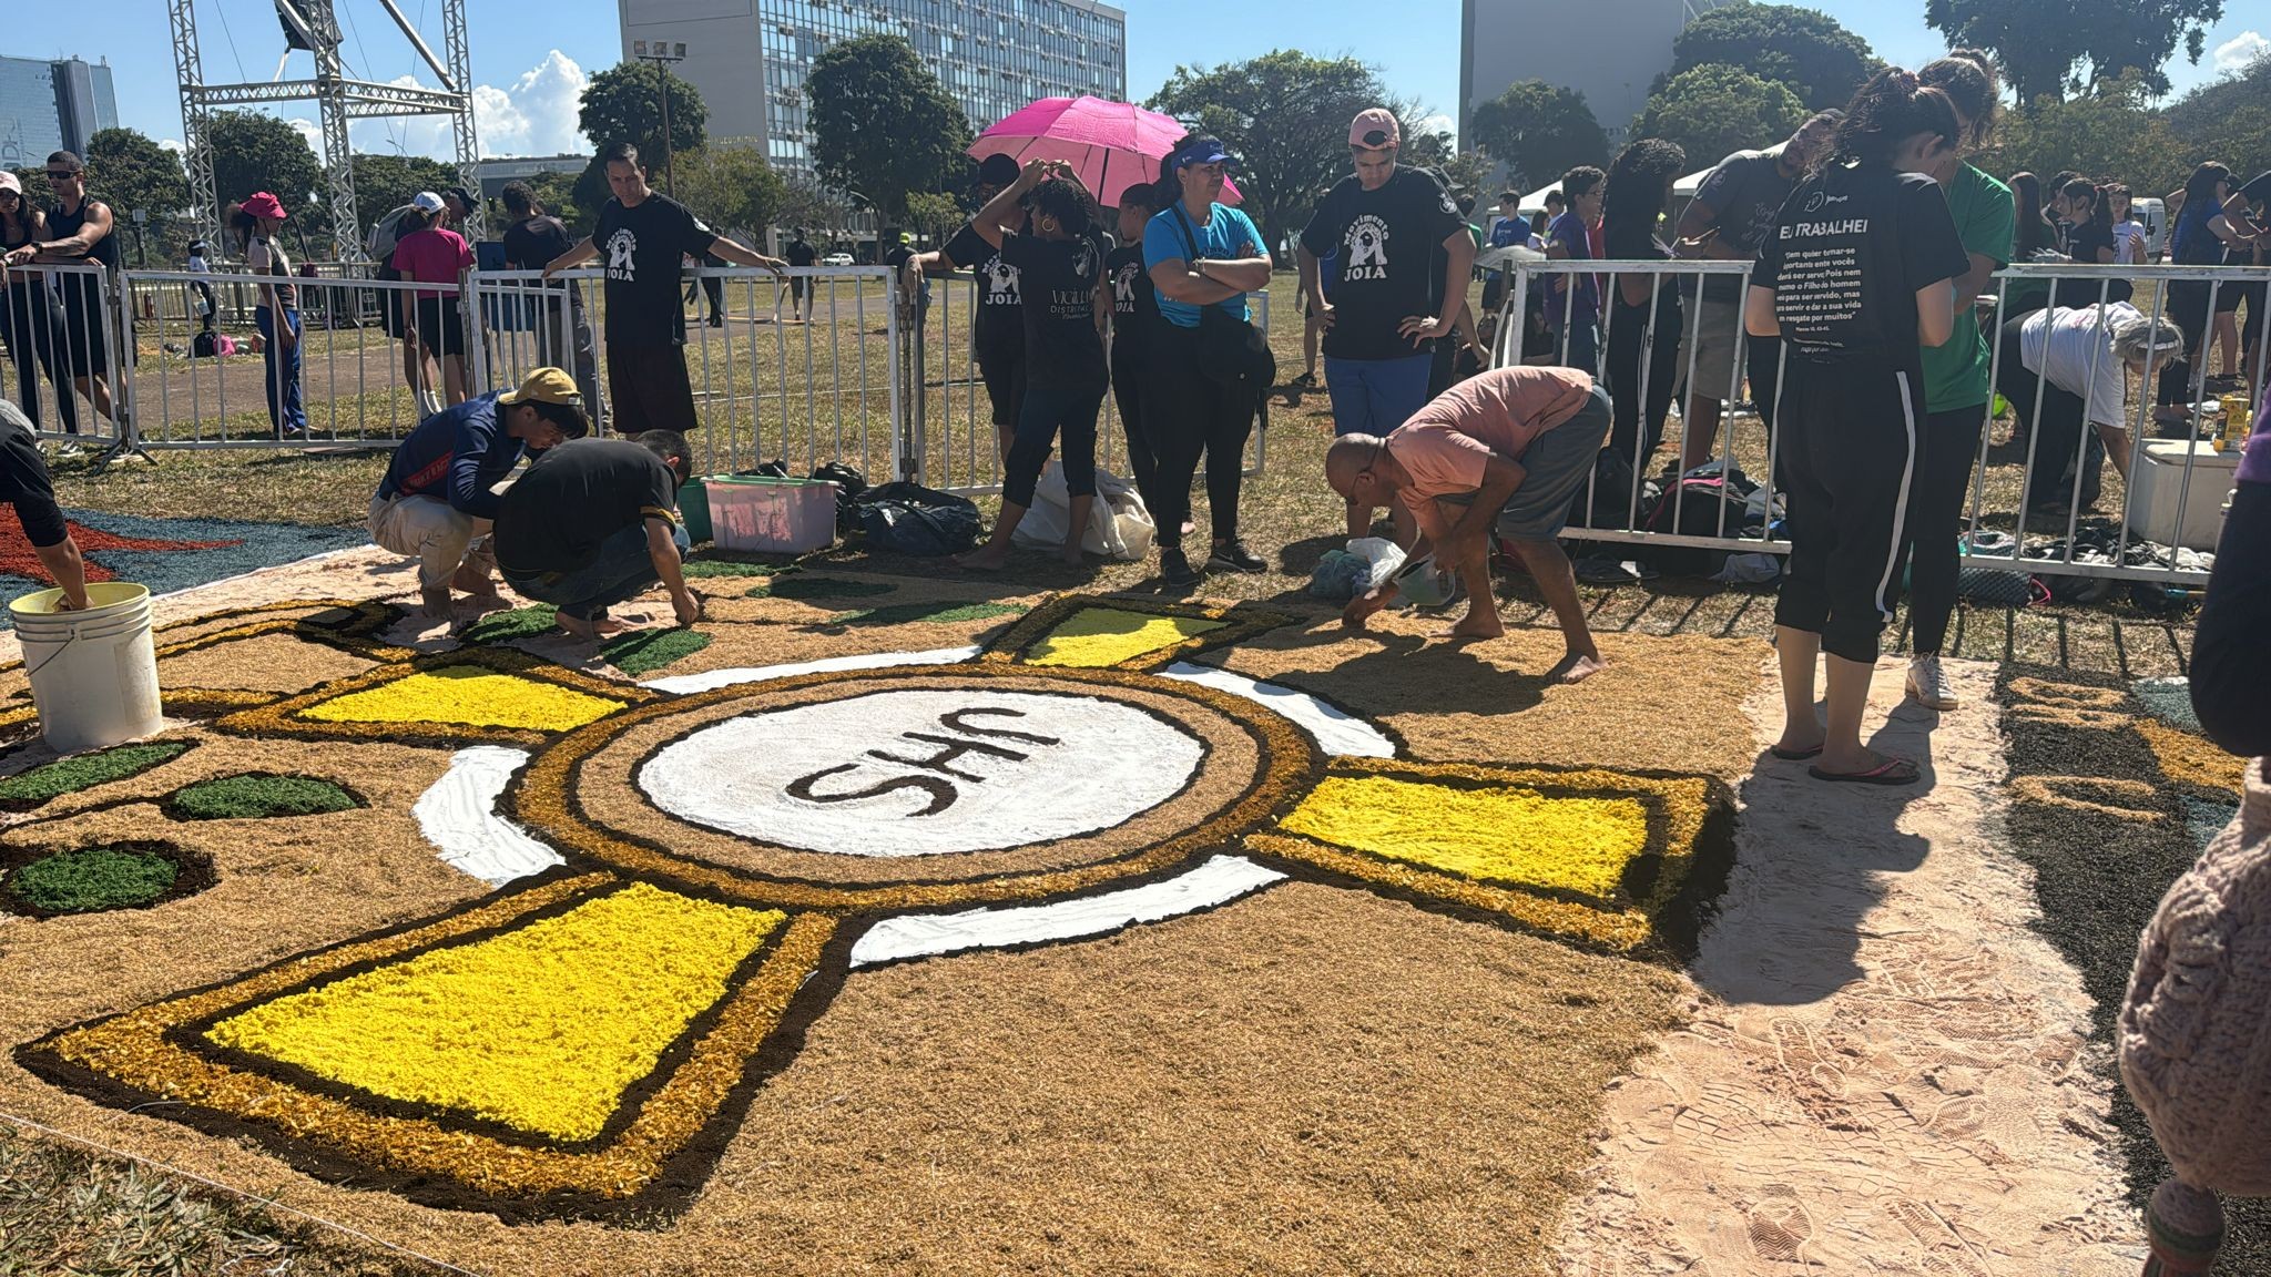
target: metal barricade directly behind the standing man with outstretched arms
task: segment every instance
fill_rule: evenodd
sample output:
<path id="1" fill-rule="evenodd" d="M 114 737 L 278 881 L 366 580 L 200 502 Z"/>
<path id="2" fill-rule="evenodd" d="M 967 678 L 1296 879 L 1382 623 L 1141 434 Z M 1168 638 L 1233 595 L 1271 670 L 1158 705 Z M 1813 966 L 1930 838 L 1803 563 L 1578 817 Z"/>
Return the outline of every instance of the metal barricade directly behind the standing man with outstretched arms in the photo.
<path id="1" fill-rule="evenodd" d="M 870 482 L 895 475 L 899 439 L 897 339 L 890 270 L 802 266 L 783 273 L 731 266 L 688 270 L 686 377 L 699 473 L 763 461 L 808 475 L 856 466 Z M 609 402 L 606 289 L 597 268 L 477 270 L 470 298 L 484 386 L 516 384 L 531 368 L 575 375 L 595 425 L 643 429 Z M 668 334 L 661 334 L 668 341 Z"/>

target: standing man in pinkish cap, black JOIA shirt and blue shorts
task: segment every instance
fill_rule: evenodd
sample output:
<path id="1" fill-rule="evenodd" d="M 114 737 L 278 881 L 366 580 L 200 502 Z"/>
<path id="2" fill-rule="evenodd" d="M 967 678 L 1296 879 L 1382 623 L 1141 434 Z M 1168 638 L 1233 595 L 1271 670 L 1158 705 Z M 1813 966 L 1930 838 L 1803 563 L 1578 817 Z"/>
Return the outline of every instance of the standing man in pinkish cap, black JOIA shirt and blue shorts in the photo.
<path id="1" fill-rule="evenodd" d="M 1451 193 L 1417 168 L 1399 168 L 1401 127 L 1394 111 L 1372 107 L 1349 123 L 1356 173 L 1342 177 L 1301 232 L 1301 295 L 1324 327 L 1324 389 L 1333 398 L 1333 434 L 1385 436 L 1426 404 L 1428 343 L 1447 336 L 1467 300 L 1444 289 L 1431 304 L 1435 250 L 1449 257 L 1444 279 L 1474 268 L 1474 239 Z M 1317 264 L 1333 261 L 1326 300 Z M 1349 536 L 1363 536 L 1372 509 L 1349 504 Z"/>

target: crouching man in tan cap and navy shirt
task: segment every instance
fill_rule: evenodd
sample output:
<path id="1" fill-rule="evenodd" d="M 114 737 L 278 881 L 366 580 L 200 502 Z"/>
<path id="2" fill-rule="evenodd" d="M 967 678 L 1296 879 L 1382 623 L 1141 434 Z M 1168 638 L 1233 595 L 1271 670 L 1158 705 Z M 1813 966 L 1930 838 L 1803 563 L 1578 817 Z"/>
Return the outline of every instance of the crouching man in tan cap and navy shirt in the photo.
<path id="1" fill-rule="evenodd" d="M 425 616 L 452 616 L 452 589 L 472 595 L 481 611 L 500 607 L 488 548 L 497 484 L 522 457 L 588 432 L 575 377 L 538 368 L 516 391 L 493 391 L 425 418 L 395 448 L 370 498 L 370 539 L 418 559 Z"/>

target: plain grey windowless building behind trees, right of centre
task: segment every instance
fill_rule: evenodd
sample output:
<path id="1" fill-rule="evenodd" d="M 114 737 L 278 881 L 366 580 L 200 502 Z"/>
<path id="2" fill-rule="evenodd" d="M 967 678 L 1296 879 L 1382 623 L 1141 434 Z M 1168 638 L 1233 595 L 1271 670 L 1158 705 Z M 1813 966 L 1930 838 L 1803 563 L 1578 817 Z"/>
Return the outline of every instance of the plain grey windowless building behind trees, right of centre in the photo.
<path id="1" fill-rule="evenodd" d="M 1463 0 L 1460 134 L 1472 111 L 1508 84 L 1544 80 L 1583 93 L 1610 145 L 1624 145 L 1633 116 L 1649 105 L 1649 84 L 1671 70 L 1671 39 L 1724 2 L 1731 0 Z"/>

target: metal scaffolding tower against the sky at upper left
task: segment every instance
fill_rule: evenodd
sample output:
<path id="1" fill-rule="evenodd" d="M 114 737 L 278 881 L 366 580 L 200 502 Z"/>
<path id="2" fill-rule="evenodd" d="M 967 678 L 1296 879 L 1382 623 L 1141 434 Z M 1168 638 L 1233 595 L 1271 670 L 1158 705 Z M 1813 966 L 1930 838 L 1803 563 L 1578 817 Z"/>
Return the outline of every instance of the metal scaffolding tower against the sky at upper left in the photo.
<path id="1" fill-rule="evenodd" d="M 441 89 L 377 84 L 350 80 L 338 57 L 338 14 L 334 0 L 275 0 L 277 18 L 284 23 L 288 48 L 304 48 L 316 55 L 313 80 L 277 80 L 273 84 L 207 84 L 204 61 L 198 55 L 195 0 L 166 0 L 166 16 L 173 23 L 173 66 L 182 82 L 182 145 L 188 152 L 188 193 L 198 236 L 220 245 L 220 207 L 225 198 L 241 198 L 248 191 L 213 191 L 213 143 L 209 118 L 218 107 L 266 107 L 277 102 L 316 102 L 322 116 L 322 170 L 332 195 L 332 239 L 341 261 L 361 261 L 363 227 L 354 214 L 354 161 L 347 145 L 347 120 L 382 116 L 447 116 L 456 141 L 456 180 L 468 191 L 479 191 L 475 159 L 479 157 L 472 134 L 472 57 L 466 45 L 466 0 L 443 0 L 443 48 L 450 52 L 447 66 L 434 57 L 418 27 L 402 16 L 395 0 L 377 0 L 386 16 L 395 20 L 409 45 L 425 59 Z M 475 202 L 466 218 L 466 236 L 481 239 L 481 207 Z"/>

